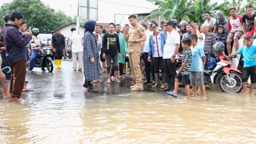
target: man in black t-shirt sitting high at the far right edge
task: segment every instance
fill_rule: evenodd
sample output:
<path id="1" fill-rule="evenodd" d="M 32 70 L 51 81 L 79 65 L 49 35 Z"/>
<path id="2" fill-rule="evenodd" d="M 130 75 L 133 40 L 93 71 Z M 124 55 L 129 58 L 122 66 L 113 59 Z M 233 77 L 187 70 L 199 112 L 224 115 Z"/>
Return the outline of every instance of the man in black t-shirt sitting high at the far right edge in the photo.
<path id="1" fill-rule="evenodd" d="M 246 14 L 242 18 L 243 24 L 243 29 L 244 29 L 244 35 L 241 37 L 244 38 L 246 35 L 252 36 L 255 31 L 255 24 L 254 22 L 256 21 L 256 14 L 253 14 L 253 7 L 252 6 L 247 6 L 246 7 Z"/>

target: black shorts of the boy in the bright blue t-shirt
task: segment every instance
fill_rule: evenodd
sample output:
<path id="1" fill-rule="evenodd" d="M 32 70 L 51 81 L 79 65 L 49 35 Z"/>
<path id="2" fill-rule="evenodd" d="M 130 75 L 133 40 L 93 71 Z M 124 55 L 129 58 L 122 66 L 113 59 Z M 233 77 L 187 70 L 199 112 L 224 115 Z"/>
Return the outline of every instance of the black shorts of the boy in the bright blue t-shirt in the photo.
<path id="1" fill-rule="evenodd" d="M 251 78 L 251 84 L 256 84 L 256 66 L 243 67 L 242 84 L 247 84 L 249 76 Z"/>

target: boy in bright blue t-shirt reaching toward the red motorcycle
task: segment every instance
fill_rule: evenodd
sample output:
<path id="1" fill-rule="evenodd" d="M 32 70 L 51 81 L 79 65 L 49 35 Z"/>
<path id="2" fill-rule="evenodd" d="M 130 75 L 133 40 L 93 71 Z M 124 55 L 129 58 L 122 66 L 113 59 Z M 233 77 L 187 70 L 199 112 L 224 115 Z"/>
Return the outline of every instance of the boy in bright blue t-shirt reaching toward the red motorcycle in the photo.
<path id="1" fill-rule="evenodd" d="M 256 46 L 252 45 L 252 36 L 244 36 L 244 43 L 246 45 L 240 48 L 237 52 L 234 52 L 229 56 L 224 55 L 226 58 L 231 58 L 237 54 L 243 54 L 244 56 L 244 67 L 242 72 L 244 93 L 240 93 L 241 95 L 247 94 L 247 81 L 249 76 L 251 78 L 251 87 L 248 94 L 252 94 L 252 90 L 256 84 Z"/>

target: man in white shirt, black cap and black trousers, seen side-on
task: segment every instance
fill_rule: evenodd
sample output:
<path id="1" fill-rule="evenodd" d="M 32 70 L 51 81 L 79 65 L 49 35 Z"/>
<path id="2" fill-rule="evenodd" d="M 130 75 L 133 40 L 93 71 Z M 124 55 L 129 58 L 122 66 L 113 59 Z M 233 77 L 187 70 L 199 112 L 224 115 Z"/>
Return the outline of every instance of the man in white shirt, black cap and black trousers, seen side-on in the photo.
<path id="1" fill-rule="evenodd" d="M 167 79 L 171 81 L 170 90 L 172 92 L 174 90 L 175 76 L 177 74 L 175 58 L 180 48 L 180 35 L 175 31 L 176 22 L 174 20 L 168 20 L 164 25 L 166 26 L 168 35 L 166 36 L 166 43 L 164 45 L 163 59 Z"/>

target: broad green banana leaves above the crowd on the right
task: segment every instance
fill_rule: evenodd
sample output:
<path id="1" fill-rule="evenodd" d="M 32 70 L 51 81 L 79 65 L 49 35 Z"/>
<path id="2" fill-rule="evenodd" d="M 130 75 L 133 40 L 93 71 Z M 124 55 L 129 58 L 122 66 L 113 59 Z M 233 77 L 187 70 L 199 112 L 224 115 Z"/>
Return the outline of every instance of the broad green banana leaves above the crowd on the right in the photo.
<path id="1" fill-rule="evenodd" d="M 216 16 L 216 12 L 221 11 L 226 17 L 229 17 L 229 7 L 236 6 L 238 14 L 244 14 L 245 7 L 248 5 L 256 8 L 255 0 L 246 0 L 246 4 L 242 6 L 245 0 L 224 0 L 221 4 L 215 2 L 210 3 L 210 0 L 147 0 L 153 4 L 159 6 L 157 9 L 152 10 L 150 15 L 147 16 L 143 22 L 146 22 L 154 17 L 162 17 L 166 20 L 176 19 L 178 22 L 181 20 L 194 20 L 195 22 L 202 23 L 205 21 L 204 12 L 210 11 L 213 17 Z"/>

